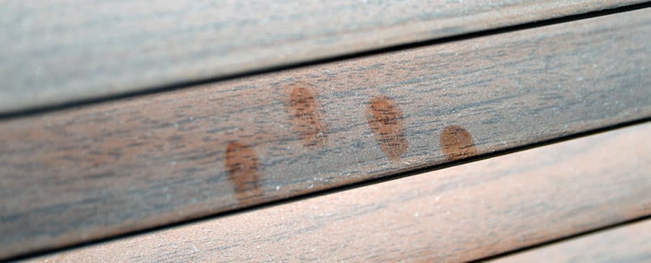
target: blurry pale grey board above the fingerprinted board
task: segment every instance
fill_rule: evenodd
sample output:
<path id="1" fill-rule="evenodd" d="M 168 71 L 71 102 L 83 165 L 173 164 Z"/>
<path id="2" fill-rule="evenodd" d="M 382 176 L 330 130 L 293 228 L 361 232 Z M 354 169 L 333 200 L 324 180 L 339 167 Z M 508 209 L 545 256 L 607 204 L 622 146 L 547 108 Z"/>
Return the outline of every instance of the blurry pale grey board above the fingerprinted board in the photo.
<path id="1" fill-rule="evenodd" d="M 8 0 L 0 113 L 639 2 Z"/>

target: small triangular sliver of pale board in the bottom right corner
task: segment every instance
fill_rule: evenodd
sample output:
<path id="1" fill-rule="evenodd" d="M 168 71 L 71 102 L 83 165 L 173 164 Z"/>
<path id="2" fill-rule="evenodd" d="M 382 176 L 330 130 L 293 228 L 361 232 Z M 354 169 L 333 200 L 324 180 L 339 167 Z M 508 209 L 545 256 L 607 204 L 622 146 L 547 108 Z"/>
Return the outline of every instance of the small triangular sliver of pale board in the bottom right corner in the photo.
<path id="1" fill-rule="evenodd" d="M 651 262 L 651 220 L 569 239 L 490 262 Z"/>

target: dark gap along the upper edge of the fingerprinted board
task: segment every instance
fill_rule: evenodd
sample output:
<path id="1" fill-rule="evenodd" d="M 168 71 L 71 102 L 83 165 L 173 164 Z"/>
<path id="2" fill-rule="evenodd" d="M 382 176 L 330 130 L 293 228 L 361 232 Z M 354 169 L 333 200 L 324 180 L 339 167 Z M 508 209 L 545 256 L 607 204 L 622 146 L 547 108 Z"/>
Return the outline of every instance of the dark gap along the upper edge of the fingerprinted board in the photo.
<path id="1" fill-rule="evenodd" d="M 412 42 L 412 43 L 407 43 L 407 44 L 400 44 L 397 46 L 390 46 L 386 48 L 376 48 L 376 49 L 371 49 L 369 51 L 362 51 L 362 52 L 357 52 L 357 53 L 350 53 L 346 55 L 335 55 L 332 57 L 325 57 L 317 60 L 308 60 L 305 62 L 298 62 L 298 63 L 292 63 L 292 64 L 286 64 L 286 65 L 280 65 L 280 66 L 269 66 L 266 68 L 258 69 L 258 70 L 253 70 L 253 71 L 245 71 L 242 73 L 237 73 L 237 74 L 232 74 L 232 75 L 225 75 L 222 77 L 217 77 L 217 78 L 206 78 L 204 80 L 194 80 L 194 81 L 186 81 L 186 82 L 177 82 L 177 83 L 170 83 L 166 85 L 162 85 L 159 87 L 151 87 L 149 89 L 145 89 L 142 91 L 132 91 L 132 92 L 125 92 L 117 95 L 111 95 L 111 96 L 106 96 L 104 98 L 90 98 L 90 99 L 82 99 L 78 100 L 75 102 L 64 102 L 56 105 L 49 105 L 49 106 L 42 106 L 42 107 L 33 107 L 31 109 L 24 109 L 24 110 L 18 110 L 18 111 L 7 111 L 7 112 L 2 112 L 0 113 L 0 120 L 3 119 L 10 119 L 10 118 L 19 118 L 19 117 L 25 117 L 25 116 L 30 116 L 30 115 L 35 115 L 35 114 L 43 114 L 48 111 L 60 111 L 64 109 L 69 109 L 73 107 L 82 107 L 82 106 L 88 106 L 92 105 L 95 103 L 101 103 L 101 102 L 108 102 L 108 101 L 113 101 L 113 100 L 120 100 L 120 99 L 125 99 L 125 98 L 132 98 L 136 96 L 144 96 L 144 95 L 150 95 L 154 93 L 161 93 L 161 92 L 169 92 L 169 91 L 176 91 L 179 89 L 185 89 L 185 88 L 190 88 L 192 86 L 197 86 L 201 84 L 208 84 L 211 82 L 220 82 L 220 81 L 225 81 L 225 80 L 233 80 L 235 78 L 244 78 L 248 77 L 251 75 L 259 75 L 259 74 L 264 74 L 264 73 L 271 73 L 275 71 L 287 71 L 289 69 L 297 69 L 301 68 L 304 66 L 313 66 L 313 65 L 318 65 L 318 64 L 325 64 L 325 63 L 330 63 L 330 62 L 337 62 L 340 60 L 353 60 L 355 58 L 359 57 L 367 57 L 371 55 L 379 55 L 382 53 L 389 53 L 389 52 L 395 52 L 395 51 L 404 51 L 410 48 L 419 48 L 423 46 L 430 46 L 430 45 L 436 45 L 436 44 L 443 44 L 443 43 L 449 43 L 449 42 L 459 42 L 467 39 L 474 39 L 478 37 L 485 37 L 488 35 L 495 35 L 495 34 L 500 34 L 500 33 L 508 33 L 512 31 L 517 31 L 517 30 L 525 30 L 525 29 L 530 29 L 530 28 L 537 28 L 537 27 L 542 27 L 542 26 L 551 26 L 553 24 L 561 24 L 561 23 L 567 23 L 570 21 L 577 21 L 580 19 L 588 19 L 588 18 L 593 18 L 593 17 L 600 17 L 604 15 L 611 15 L 614 13 L 618 12 L 627 12 L 627 11 L 632 11 L 632 10 L 638 10 L 642 8 L 648 8 L 651 7 L 651 1 L 645 2 L 645 3 L 637 3 L 631 6 L 623 6 L 623 7 L 618 7 L 618 8 L 611 8 L 611 9 L 605 9 L 605 10 L 596 10 L 596 11 L 591 11 L 591 12 L 585 12 L 582 14 L 576 14 L 576 15 L 569 15 L 567 17 L 558 17 L 558 18 L 551 18 L 551 19 L 544 19 L 540 21 L 533 21 L 533 22 L 528 22 L 525 24 L 519 24 L 515 26 L 506 26 L 506 27 L 501 27 L 501 28 L 494 28 L 490 30 L 481 30 L 478 32 L 474 33 L 464 33 L 461 35 L 455 35 L 451 37 L 442 37 L 442 38 L 437 38 L 437 39 L 429 39 L 429 40 L 424 40 L 420 42 Z"/>

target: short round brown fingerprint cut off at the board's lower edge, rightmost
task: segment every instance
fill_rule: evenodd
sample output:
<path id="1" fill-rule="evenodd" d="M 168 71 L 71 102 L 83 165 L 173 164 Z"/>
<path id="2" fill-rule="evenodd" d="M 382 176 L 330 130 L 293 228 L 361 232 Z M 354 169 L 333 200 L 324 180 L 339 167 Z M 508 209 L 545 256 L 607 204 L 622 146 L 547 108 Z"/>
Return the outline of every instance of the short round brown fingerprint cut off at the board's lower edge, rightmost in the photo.
<path id="1" fill-rule="evenodd" d="M 450 125 L 443 129 L 440 135 L 440 145 L 448 161 L 461 160 L 477 155 L 477 147 L 474 145 L 470 132 L 457 125 Z"/>

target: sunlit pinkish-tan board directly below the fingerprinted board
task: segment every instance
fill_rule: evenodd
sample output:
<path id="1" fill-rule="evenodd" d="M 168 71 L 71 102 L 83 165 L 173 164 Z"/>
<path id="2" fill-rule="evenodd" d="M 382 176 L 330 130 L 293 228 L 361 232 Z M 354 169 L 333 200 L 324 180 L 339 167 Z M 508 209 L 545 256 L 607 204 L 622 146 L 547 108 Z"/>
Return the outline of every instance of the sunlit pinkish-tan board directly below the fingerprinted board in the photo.
<path id="1" fill-rule="evenodd" d="M 34 261 L 475 260 L 651 214 L 649 134 L 645 123 Z"/>

